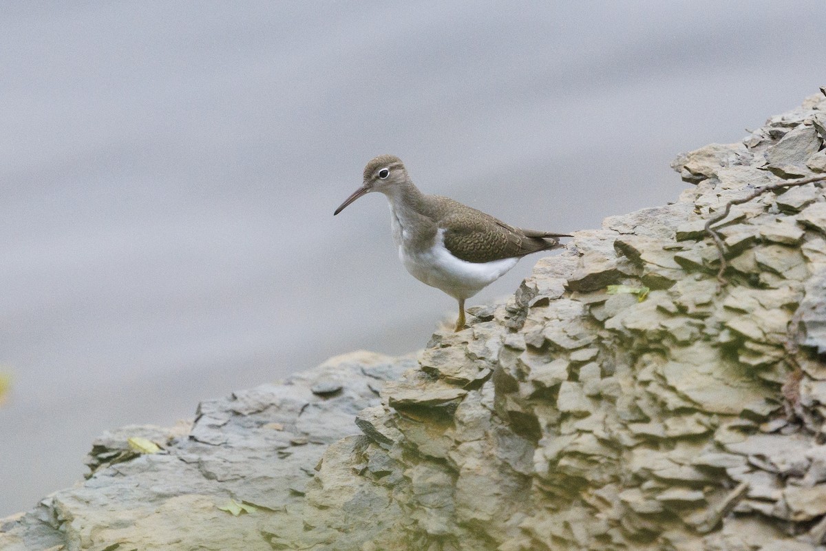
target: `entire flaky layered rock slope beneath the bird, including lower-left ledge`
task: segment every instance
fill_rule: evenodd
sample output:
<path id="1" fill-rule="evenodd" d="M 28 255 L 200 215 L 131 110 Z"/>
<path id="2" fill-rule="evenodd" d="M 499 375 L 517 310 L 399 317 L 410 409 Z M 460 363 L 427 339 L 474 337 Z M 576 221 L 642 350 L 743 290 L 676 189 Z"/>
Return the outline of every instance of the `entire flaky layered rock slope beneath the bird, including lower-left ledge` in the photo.
<path id="1" fill-rule="evenodd" d="M 682 155 L 678 201 L 577 232 L 417 360 L 350 354 L 105 435 L 0 548 L 826 549 L 826 193 L 734 207 L 724 284 L 703 231 L 826 172 L 824 126 L 809 97 Z"/>

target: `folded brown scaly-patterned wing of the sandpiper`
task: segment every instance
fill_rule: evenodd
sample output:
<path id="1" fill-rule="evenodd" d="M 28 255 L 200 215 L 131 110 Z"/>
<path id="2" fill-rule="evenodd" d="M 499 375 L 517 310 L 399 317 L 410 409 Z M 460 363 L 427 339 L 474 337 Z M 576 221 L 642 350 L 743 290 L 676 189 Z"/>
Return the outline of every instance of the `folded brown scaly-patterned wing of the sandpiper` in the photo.
<path id="1" fill-rule="evenodd" d="M 491 262 L 559 246 L 557 240 L 550 239 L 558 234 L 525 232 L 459 202 L 451 200 L 449 211 L 439 227 L 444 228 L 444 246 L 458 259 Z"/>

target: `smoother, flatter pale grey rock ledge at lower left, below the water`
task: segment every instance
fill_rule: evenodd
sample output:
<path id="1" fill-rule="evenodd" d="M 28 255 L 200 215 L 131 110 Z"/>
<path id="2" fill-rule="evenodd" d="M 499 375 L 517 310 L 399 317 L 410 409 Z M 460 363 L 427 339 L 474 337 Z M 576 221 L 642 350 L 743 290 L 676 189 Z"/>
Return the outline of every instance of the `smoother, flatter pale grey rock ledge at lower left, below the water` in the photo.
<path id="1" fill-rule="evenodd" d="M 368 382 L 400 378 L 415 365 L 415 359 L 344 354 L 282 384 L 202 402 L 191 430 L 135 426 L 107 433 L 96 442 L 93 476 L 2 525 L 0 549 L 272 551 L 262 527 L 278 531 L 273 511 L 299 504 L 327 446 L 358 434 L 355 413 L 379 404 Z M 311 388 L 319 385 L 337 387 L 336 396 L 316 396 Z M 302 427 L 310 412 L 312 425 Z M 158 442 L 162 451 L 107 464 L 107 450 L 128 448 L 132 437 Z M 232 501 L 251 512 L 221 509 Z M 69 518 L 58 511 L 70 511 Z"/>

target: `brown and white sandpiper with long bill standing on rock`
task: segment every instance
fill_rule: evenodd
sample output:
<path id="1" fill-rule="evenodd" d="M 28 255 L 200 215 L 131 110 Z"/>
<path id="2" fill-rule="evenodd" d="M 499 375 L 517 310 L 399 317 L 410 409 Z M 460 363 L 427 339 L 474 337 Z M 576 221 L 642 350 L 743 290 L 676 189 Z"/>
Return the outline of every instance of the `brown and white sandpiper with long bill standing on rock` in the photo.
<path id="1" fill-rule="evenodd" d="M 422 283 L 458 301 L 455 331 L 465 326 L 465 300 L 501 278 L 519 260 L 563 246 L 568 234 L 525 230 L 449 197 L 419 191 L 401 159 L 382 154 L 364 167 L 362 186 L 335 209 L 372 192 L 390 203 L 393 242 L 401 264 Z"/>

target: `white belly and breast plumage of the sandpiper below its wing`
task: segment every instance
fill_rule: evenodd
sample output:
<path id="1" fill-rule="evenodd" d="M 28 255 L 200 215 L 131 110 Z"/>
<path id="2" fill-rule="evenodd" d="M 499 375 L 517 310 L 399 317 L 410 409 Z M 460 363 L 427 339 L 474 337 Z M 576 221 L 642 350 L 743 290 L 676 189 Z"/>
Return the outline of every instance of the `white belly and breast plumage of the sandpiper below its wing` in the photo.
<path id="1" fill-rule="evenodd" d="M 453 298 L 472 297 L 519 262 L 519 259 L 501 259 L 475 263 L 457 259 L 445 248 L 443 234 L 444 230 L 439 230 L 435 245 L 420 252 L 407 250 L 401 240 L 399 259 L 414 278 Z"/>

